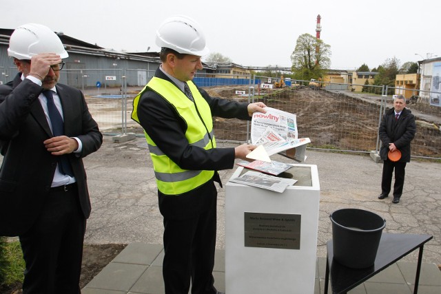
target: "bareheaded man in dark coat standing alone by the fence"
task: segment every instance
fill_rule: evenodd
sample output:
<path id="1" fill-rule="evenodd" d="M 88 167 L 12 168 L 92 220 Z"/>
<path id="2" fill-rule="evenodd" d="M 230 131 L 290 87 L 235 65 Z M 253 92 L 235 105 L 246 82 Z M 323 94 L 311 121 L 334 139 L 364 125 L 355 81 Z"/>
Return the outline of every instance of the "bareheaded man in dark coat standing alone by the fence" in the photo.
<path id="1" fill-rule="evenodd" d="M 404 96 L 396 96 L 393 101 L 393 108 L 389 109 L 381 120 L 378 133 L 382 143 L 380 157 L 383 160 L 381 194 L 378 199 L 389 196 L 393 169 L 395 169 L 392 203 L 398 204 L 404 187 L 404 169 L 406 163 L 411 161 L 411 140 L 413 140 L 416 133 L 415 116 L 406 108 Z M 398 161 L 392 161 L 387 154 L 389 151 L 396 150 L 401 152 L 401 158 Z"/>

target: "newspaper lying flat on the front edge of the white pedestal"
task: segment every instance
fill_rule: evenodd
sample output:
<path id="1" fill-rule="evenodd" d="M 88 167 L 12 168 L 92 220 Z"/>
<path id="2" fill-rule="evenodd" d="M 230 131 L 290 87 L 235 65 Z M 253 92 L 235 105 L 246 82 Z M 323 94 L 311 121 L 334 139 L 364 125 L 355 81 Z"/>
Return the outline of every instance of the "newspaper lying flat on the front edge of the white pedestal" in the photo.
<path id="1" fill-rule="evenodd" d="M 277 178 L 275 176 L 269 176 L 267 174 L 261 174 L 257 171 L 247 171 L 245 174 L 238 178 L 232 178 L 230 182 L 236 182 L 238 184 L 258 187 L 283 193 L 288 186 L 294 185 L 297 180 L 291 178 Z"/>

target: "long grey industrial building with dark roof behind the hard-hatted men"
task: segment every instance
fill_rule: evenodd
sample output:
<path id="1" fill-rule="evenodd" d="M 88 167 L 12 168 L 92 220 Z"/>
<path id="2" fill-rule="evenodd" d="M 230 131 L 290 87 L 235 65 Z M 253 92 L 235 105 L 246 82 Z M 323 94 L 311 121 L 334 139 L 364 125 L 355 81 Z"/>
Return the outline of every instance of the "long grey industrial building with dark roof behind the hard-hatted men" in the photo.
<path id="1" fill-rule="evenodd" d="M 12 29 L 0 28 L 0 85 L 11 81 L 17 74 L 13 59 L 8 56 Z M 56 32 L 57 33 L 57 32 Z M 60 73 L 60 83 L 79 89 L 86 87 L 144 86 L 154 75 L 161 61 L 158 52 L 116 52 L 86 43 L 71 36 L 57 33 L 69 57 Z M 214 67 L 204 64 L 205 68 Z"/>

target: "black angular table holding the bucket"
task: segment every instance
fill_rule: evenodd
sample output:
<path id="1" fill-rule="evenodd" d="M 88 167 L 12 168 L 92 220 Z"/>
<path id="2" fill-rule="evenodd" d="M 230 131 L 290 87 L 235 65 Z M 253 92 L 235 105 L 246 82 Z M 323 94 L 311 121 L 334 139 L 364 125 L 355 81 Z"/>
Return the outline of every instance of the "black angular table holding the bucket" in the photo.
<path id="1" fill-rule="evenodd" d="M 332 240 L 328 241 L 325 294 L 328 293 L 329 274 L 331 275 L 331 290 L 333 294 L 347 293 L 362 282 L 365 282 L 373 275 L 380 273 L 391 264 L 394 264 L 404 256 L 419 248 L 418 266 L 416 269 L 415 288 L 413 294 L 418 293 L 418 282 L 420 280 L 422 250 L 424 244 L 431 240 L 431 235 L 411 235 L 382 233 L 375 263 L 367 269 L 351 269 L 343 266 L 334 260 L 334 249 Z"/>

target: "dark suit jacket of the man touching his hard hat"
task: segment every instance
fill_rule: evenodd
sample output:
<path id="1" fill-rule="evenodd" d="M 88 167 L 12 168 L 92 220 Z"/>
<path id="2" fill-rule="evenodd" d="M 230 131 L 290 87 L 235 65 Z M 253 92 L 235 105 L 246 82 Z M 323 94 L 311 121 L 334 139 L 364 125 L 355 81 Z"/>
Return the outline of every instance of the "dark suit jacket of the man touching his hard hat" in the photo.
<path id="1" fill-rule="evenodd" d="M 20 74 L 19 74 L 20 75 Z M 57 157 L 43 141 L 52 137 L 38 96 L 39 85 L 17 75 L 9 85 L 0 85 L 0 235 L 21 235 L 39 216 L 50 191 Z M 65 136 L 83 144 L 80 154 L 69 154 L 85 218 L 90 216 L 90 198 L 82 158 L 101 147 L 103 136 L 90 115 L 81 91 L 57 84 L 63 106 Z"/>

